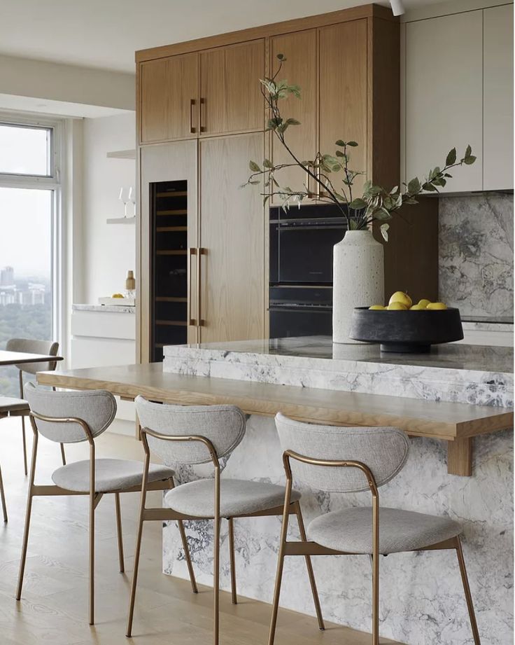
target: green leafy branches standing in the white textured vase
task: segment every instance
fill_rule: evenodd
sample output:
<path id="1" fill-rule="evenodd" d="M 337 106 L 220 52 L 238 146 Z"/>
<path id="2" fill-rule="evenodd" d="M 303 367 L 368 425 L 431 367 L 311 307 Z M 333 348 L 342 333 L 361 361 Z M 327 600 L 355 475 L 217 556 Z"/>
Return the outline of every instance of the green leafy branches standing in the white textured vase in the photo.
<path id="1" fill-rule="evenodd" d="M 292 204 L 298 207 L 306 199 L 335 204 L 344 216 L 348 230 L 366 230 L 374 221 L 381 222 L 381 234 L 388 240 L 388 221 L 393 218 L 393 213 L 398 211 L 402 204 L 417 204 L 416 197 L 421 193 L 439 192 L 439 188 L 446 186 L 447 180 L 452 175 L 449 170 L 463 164 L 471 165 L 476 160 L 472 155 L 472 148 L 467 146 L 465 154 L 460 160 L 457 158 L 456 148 L 453 148 L 446 157 L 444 167 L 435 167 L 428 172 L 421 181 L 414 177 L 408 183 L 403 183 L 402 188 L 395 186 L 386 190 L 376 186 L 372 181 L 366 181 L 361 197 L 353 197 L 355 178 L 366 174 L 362 170 L 351 167 L 351 148 L 358 147 L 357 141 L 335 141 L 337 146 L 334 155 L 323 154 L 318 151 L 312 160 L 300 160 L 292 151 L 285 137 L 285 132 L 291 126 L 301 125 L 295 118 L 284 118 L 281 114 L 280 104 L 284 99 L 293 96 L 301 98 L 299 85 L 290 85 L 288 81 L 278 81 L 278 75 L 283 69 L 286 58 L 283 54 L 277 55 L 278 67 L 271 78 L 260 81 L 260 90 L 269 109 L 267 130 L 273 132 L 281 146 L 290 156 L 290 163 L 276 164 L 269 159 L 264 159 L 262 164 L 255 161 L 249 162 L 251 175 L 242 187 L 258 185 L 264 181 L 265 191 L 261 193 L 266 204 L 270 197 L 277 196 L 283 209 L 287 210 Z M 276 173 L 284 168 L 299 167 L 306 175 L 306 183 L 302 188 L 292 189 L 282 186 L 276 179 Z M 340 176 L 338 174 L 341 173 Z M 334 176 L 334 179 L 332 178 Z M 310 179 L 317 186 L 316 193 L 309 190 Z M 341 188 L 336 188 L 335 183 L 341 182 Z"/>

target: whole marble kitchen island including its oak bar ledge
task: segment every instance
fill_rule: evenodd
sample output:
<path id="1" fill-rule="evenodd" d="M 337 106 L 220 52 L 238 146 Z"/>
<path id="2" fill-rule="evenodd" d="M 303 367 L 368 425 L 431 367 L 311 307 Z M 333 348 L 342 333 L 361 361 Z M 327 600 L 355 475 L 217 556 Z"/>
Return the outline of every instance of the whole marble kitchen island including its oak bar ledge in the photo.
<path id="1" fill-rule="evenodd" d="M 513 423 L 512 351 L 460 344 L 414 356 L 381 354 L 370 345 L 333 346 L 327 338 L 232 342 L 167 347 L 164 366 L 40 373 L 38 381 L 104 387 L 124 398 L 143 394 L 186 405 L 240 405 L 249 414 L 248 430 L 225 464 L 223 477 L 230 478 L 283 482 L 271 418 L 277 410 L 313 422 L 403 426 L 413 437 L 409 459 L 399 476 L 380 489 L 380 503 L 462 522 L 479 631 L 484 642 L 507 645 L 513 609 L 513 456 L 512 431 L 507 429 Z M 470 476 L 450 474 L 447 445 L 472 436 L 474 451 L 467 455 L 472 469 L 462 473 Z M 348 504 L 369 504 L 369 495 L 303 491 L 307 522 Z M 270 601 L 280 520 L 237 520 L 235 531 L 239 593 Z M 211 584 L 212 557 L 206 548 L 212 541 L 211 524 L 189 522 L 187 532 L 197 577 Z M 225 525 L 223 540 L 221 579 L 229 588 Z M 299 560 L 286 561 L 281 604 L 311 614 L 309 584 Z M 318 557 L 314 567 L 327 620 L 369 631 L 369 560 Z M 163 569 L 188 575 L 173 522 L 164 526 Z M 381 558 L 381 634 L 410 645 L 472 642 L 453 553 Z"/>

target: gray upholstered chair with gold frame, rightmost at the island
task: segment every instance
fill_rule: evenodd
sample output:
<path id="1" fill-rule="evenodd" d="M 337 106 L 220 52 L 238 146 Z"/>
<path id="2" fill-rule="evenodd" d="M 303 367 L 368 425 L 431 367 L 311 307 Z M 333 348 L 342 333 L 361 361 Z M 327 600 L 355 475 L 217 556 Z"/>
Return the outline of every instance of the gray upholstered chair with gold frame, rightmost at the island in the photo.
<path id="1" fill-rule="evenodd" d="M 379 487 L 393 479 L 406 462 L 407 435 L 397 428 L 313 425 L 281 414 L 276 415 L 276 426 L 284 451 L 286 493 L 269 645 L 274 644 L 286 555 L 372 557 L 372 645 L 379 645 L 379 556 L 435 549 L 456 550 L 474 644 L 480 645 L 460 543 L 461 526 L 449 518 L 379 505 Z M 307 527 L 307 543 L 287 541 L 294 478 L 314 490 L 369 491 L 372 506 L 351 506 L 320 515 Z"/>

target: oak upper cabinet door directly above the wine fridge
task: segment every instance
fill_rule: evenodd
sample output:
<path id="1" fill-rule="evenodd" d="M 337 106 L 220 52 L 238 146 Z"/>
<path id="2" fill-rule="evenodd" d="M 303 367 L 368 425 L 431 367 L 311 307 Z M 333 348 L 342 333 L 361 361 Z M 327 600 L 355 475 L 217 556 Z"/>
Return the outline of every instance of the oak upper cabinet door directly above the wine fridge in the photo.
<path id="1" fill-rule="evenodd" d="M 198 55 L 141 63 L 141 143 L 197 137 Z"/>

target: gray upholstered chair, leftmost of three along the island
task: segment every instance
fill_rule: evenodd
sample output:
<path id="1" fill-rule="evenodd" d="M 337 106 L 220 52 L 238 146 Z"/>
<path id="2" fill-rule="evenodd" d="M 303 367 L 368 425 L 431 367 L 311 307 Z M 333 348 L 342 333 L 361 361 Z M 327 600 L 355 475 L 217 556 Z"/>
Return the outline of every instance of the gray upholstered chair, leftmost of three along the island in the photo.
<path id="1" fill-rule="evenodd" d="M 88 495 L 89 496 L 89 618 L 94 623 L 94 513 L 99 501 L 106 494 L 115 499 L 116 527 L 118 531 L 118 555 L 120 571 L 124 571 L 122 520 L 120 493 L 139 492 L 143 482 L 143 462 L 127 459 L 97 459 L 95 438 L 111 425 L 116 414 L 116 401 L 104 390 L 52 391 L 28 383 L 24 387 L 25 398 L 30 406 L 29 418 L 34 432 L 30 467 L 27 512 L 22 543 L 20 575 L 16 599 L 22 595 L 23 574 L 27 558 L 27 543 L 31 519 L 32 499 L 38 495 Z M 61 466 L 52 473 L 54 485 L 36 485 L 36 457 L 38 436 L 43 435 L 56 443 L 87 441 L 89 459 Z M 174 486 L 174 471 L 166 466 L 145 464 L 145 490 L 168 490 Z M 178 520 L 183 538 L 185 557 L 189 561 L 188 544 L 181 520 Z M 195 579 L 192 586 L 196 589 Z"/>

